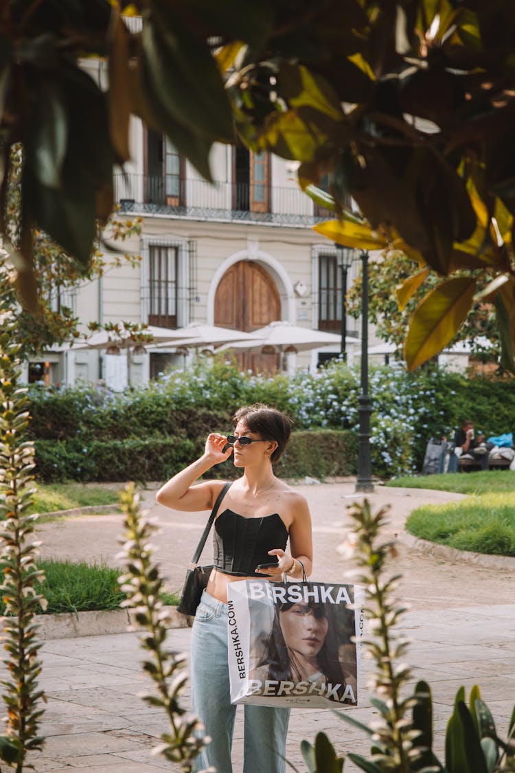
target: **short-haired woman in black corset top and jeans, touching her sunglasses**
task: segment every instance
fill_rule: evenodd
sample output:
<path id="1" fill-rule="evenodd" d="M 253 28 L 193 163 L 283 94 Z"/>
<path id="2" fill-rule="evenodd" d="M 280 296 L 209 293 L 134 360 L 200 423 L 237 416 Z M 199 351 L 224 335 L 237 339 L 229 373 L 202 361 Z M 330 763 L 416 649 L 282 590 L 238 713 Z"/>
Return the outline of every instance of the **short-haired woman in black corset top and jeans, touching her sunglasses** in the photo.
<path id="1" fill-rule="evenodd" d="M 197 479 L 234 451 L 236 480 L 215 519 L 214 557 L 191 635 L 191 703 L 211 742 L 198 755 L 198 769 L 214 765 L 232 773 L 235 706 L 229 697 L 227 586 L 230 582 L 283 574 L 310 574 L 313 547 L 306 499 L 273 473 L 290 439 L 290 420 L 263 404 L 242 407 L 233 417 L 234 434 L 208 435 L 201 458 L 174 475 L 158 491 L 161 504 L 196 512 L 212 509 L 225 482 Z M 290 550 L 286 550 L 286 543 Z M 245 706 L 243 773 L 284 773 L 289 710 Z"/>

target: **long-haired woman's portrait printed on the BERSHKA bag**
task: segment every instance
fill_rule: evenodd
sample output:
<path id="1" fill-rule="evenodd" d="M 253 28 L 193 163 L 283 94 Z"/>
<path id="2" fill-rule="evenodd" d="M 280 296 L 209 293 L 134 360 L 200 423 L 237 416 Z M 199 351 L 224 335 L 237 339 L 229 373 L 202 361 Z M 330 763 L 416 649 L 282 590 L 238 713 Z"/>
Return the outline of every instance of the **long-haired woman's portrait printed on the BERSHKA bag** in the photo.
<path id="1" fill-rule="evenodd" d="M 338 659 L 334 613 L 327 604 L 280 602 L 276 604 L 266 653 L 259 662 L 259 679 L 311 682 L 324 686 L 340 699 L 346 681 Z M 349 699 L 349 703 L 352 703 Z"/>

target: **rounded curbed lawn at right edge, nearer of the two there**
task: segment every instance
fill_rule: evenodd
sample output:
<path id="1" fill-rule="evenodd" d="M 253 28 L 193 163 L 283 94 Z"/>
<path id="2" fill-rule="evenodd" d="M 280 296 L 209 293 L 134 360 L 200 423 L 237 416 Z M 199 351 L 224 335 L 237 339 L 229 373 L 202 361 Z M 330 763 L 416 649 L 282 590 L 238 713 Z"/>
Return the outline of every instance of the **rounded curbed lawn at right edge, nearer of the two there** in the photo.
<path id="1" fill-rule="evenodd" d="M 460 477 L 469 475 L 473 473 Z M 419 507 L 408 516 L 405 528 L 423 540 L 459 550 L 515 556 L 515 496 L 490 492 L 460 502 Z"/>

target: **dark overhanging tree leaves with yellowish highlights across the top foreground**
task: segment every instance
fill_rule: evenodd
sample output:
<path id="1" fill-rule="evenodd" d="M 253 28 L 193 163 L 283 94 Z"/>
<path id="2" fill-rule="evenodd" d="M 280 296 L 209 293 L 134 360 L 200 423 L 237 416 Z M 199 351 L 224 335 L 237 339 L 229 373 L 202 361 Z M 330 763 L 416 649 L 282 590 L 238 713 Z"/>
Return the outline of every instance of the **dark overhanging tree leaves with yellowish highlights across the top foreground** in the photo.
<path id="1" fill-rule="evenodd" d="M 124 9 L 141 14 L 141 29 L 127 28 Z M 29 10 L 8 3 L 0 167 L 8 177 L 22 138 L 22 298 L 37 308 L 35 226 L 87 272 L 97 223 L 113 208 L 113 167 L 129 157 L 134 114 L 167 134 L 205 179 L 213 144 L 236 138 L 300 162 L 300 185 L 319 200 L 315 188 L 330 172 L 337 215 L 359 225 L 344 213 L 352 197 L 372 234 L 364 240 L 354 229 L 341 243 L 394 247 L 444 277 L 415 309 L 409 366 L 445 346 L 487 298 L 503 366 L 515 369 L 514 25 L 510 0 L 461 0 L 450 10 L 428 0 L 303 0 L 294 9 L 282 0 L 215 8 L 205 0 L 70 0 L 58 12 L 53 0 Z M 105 91 L 83 59 L 107 61 Z M 478 274 L 487 284 L 481 298 Z"/>

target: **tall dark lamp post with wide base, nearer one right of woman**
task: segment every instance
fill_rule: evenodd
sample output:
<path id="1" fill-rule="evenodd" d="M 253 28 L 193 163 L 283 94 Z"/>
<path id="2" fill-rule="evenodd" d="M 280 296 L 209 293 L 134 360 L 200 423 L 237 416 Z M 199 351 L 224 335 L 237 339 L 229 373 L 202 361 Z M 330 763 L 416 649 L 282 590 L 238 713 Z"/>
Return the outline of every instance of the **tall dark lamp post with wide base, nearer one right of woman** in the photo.
<path id="1" fill-rule="evenodd" d="M 357 492 L 373 492 L 370 457 L 370 414 L 372 401 L 368 394 L 368 252 L 361 252 L 361 394 L 358 398 L 359 434 L 357 448 Z"/>

